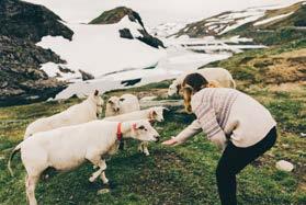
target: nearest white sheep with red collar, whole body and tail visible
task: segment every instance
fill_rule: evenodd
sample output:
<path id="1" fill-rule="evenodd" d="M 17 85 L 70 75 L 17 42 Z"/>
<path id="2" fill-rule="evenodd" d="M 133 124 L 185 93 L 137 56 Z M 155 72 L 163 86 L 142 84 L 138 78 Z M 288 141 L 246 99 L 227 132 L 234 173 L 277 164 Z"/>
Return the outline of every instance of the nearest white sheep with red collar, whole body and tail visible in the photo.
<path id="1" fill-rule="evenodd" d="M 81 125 L 60 127 L 57 129 L 36 133 L 20 143 L 11 153 L 8 162 L 10 173 L 11 160 L 18 151 L 26 170 L 26 197 L 30 205 L 36 205 L 35 187 L 41 174 L 47 168 L 68 171 L 89 160 L 99 168 L 89 178 L 90 182 L 99 176 L 106 184 L 105 156 L 113 155 L 120 140 L 125 137 L 143 141 L 158 141 L 159 134 L 148 121 L 106 122 L 92 121 Z"/>

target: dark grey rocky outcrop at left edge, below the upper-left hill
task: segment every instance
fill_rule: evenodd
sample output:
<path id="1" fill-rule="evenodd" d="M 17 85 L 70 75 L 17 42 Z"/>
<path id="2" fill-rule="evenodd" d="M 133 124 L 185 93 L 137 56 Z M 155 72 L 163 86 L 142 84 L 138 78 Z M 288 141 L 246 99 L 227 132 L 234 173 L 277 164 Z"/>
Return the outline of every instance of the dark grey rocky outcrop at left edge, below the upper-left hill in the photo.
<path id="1" fill-rule="evenodd" d="M 66 82 L 38 69 L 48 61 L 65 62 L 32 42 L 0 36 L 0 106 L 46 100 L 65 89 Z"/>

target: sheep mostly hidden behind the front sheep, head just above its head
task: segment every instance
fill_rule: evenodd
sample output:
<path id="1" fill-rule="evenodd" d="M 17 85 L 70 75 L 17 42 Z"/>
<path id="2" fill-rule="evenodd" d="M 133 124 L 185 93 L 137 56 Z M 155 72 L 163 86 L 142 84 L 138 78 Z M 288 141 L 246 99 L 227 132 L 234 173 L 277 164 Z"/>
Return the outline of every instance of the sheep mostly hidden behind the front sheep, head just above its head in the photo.
<path id="1" fill-rule="evenodd" d="M 149 122 L 163 122 L 163 111 L 167 110 L 162 106 L 155 106 L 143 111 L 134 111 L 132 113 L 126 113 L 122 115 L 105 117 L 103 121 L 110 122 L 126 122 L 136 119 L 148 119 Z M 148 143 L 140 143 L 138 150 L 146 156 L 149 156 Z"/>

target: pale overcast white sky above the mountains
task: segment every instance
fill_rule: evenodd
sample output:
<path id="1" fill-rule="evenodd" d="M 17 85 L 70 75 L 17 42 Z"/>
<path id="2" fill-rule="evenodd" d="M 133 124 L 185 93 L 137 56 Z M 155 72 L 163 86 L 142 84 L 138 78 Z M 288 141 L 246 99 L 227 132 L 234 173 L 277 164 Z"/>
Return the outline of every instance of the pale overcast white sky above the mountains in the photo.
<path id="1" fill-rule="evenodd" d="M 301 0 L 25 0 L 44 4 L 63 20 L 88 23 L 103 11 L 126 5 L 139 12 L 145 24 L 193 22 L 224 11 L 261 5 L 287 5 Z"/>

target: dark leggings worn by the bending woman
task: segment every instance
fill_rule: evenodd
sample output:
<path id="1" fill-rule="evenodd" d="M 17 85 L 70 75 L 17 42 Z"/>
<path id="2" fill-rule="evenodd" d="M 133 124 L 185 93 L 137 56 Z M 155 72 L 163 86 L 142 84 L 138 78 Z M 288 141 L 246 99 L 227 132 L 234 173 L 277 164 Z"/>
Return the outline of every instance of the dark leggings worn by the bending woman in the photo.
<path id="1" fill-rule="evenodd" d="M 227 145 L 216 170 L 218 193 L 222 205 L 236 205 L 236 174 L 246 166 L 269 150 L 276 141 L 276 128 L 251 147 L 239 148 L 231 141 Z"/>

